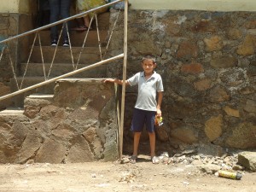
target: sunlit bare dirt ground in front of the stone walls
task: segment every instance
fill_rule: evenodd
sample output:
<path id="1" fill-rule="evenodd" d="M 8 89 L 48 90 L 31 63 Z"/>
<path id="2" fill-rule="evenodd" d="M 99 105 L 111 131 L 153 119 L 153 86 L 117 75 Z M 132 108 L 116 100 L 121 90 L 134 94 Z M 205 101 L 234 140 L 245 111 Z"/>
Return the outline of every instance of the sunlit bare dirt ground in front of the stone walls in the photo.
<path id="1" fill-rule="evenodd" d="M 90 162 L 81 164 L 0 165 L 1 192 L 95 191 L 256 191 L 256 172 L 241 180 L 201 172 L 195 165 L 157 164 L 139 156 L 136 164 Z"/>

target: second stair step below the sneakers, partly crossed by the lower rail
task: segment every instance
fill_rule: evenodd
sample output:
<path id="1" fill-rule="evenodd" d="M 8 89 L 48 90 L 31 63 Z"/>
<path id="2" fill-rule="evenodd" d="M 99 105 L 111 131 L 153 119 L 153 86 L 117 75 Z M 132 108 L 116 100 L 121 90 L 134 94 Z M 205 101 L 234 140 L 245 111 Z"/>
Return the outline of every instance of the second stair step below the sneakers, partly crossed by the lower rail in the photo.
<path id="1" fill-rule="evenodd" d="M 50 63 L 44 63 L 45 74 L 48 75 Z M 76 66 L 76 63 L 74 63 Z M 87 64 L 79 64 L 78 69 L 82 67 L 87 67 Z M 20 75 L 23 75 L 26 70 L 25 77 L 44 77 L 44 70 L 42 63 L 29 63 L 26 68 L 26 63 L 21 63 L 20 65 Z M 50 70 L 51 77 L 57 77 L 65 73 L 73 72 L 73 65 L 71 63 L 54 63 Z M 82 73 L 73 75 L 75 78 L 102 78 L 106 77 L 107 66 L 102 65 L 93 69 L 89 69 Z"/>

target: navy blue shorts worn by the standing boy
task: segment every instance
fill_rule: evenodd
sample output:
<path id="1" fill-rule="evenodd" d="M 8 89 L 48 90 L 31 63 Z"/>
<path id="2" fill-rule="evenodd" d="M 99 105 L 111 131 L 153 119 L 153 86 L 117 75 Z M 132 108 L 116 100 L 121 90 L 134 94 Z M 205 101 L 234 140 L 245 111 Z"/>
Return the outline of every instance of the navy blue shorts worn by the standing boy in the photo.
<path id="1" fill-rule="evenodd" d="M 146 111 L 134 108 L 133 118 L 131 121 L 131 131 L 142 132 L 144 125 L 146 125 L 148 132 L 154 132 L 155 114 L 155 111 Z"/>

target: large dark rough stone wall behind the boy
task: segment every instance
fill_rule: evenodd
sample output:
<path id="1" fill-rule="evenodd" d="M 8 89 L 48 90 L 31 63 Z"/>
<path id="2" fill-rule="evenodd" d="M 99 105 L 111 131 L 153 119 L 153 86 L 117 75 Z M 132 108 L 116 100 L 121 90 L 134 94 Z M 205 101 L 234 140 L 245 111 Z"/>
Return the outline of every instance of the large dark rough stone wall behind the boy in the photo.
<path id="1" fill-rule="evenodd" d="M 116 15 L 111 14 L 112 25 Z M 255 12 L 129 11 L 127 78 L 142 70 L 143 55 L 153 54 L 164 82 L 158 149 L 201 143 L 212 148 L 256 148 L 255 16 Z M 113 33 L 111 55 L 122 52 L 122 41 L 123 18 Z M 121 66 L 117 70 L 113 65 L 108 66 L 108 76 L 122 78 Z M 127 88 L 124 151 L 128 153 L 136 98 L 136 88 Z"/>

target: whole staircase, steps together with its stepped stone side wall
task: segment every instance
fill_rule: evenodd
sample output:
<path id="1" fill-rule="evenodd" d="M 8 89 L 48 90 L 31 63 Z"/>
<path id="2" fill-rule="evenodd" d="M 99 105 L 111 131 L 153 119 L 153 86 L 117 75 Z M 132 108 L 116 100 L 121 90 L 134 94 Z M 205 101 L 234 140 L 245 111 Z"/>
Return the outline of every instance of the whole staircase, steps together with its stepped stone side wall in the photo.
<path id="1" fill-rule="evenodd" d="M 108 36 L 108 19 L 109 13 L 98 17 L 102 45 Z M 84 35 L 85 32 L 71 31 L 75 64 Z M 49 31 L 40 32 L 40 36 L 48 73 L 55 48 L 49 46 Z M 89 32 L 85 46 L 79 68 L 101 60 L 96 30 Z M 44 81 L 39 51 L 36 44 L 23 87 Z M 69 51 L 69 48 L 58 47 L 49 78 L 73 71 Z M 23 60 L 20 75 L 25 69 L 26 60 Z M 115 84 L 102 83 L 102 77 L 106 77 L 106 65 L 15 96 L 15 108 L 0 112 L 0 163 L 116 160 L 119 91 Z M 16 90 L 15 81 L 11 85 Z"/>

